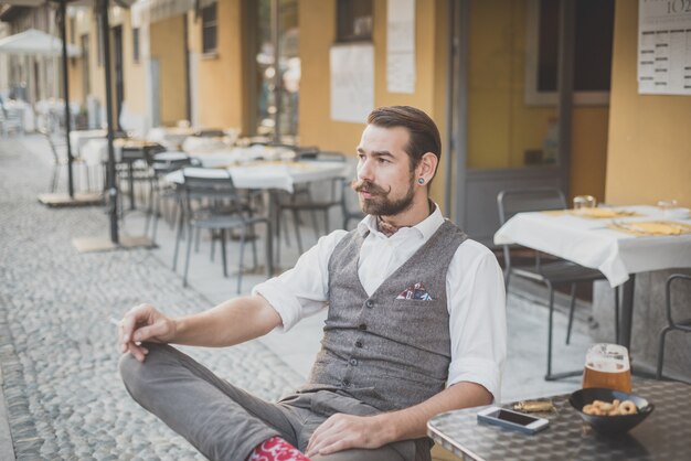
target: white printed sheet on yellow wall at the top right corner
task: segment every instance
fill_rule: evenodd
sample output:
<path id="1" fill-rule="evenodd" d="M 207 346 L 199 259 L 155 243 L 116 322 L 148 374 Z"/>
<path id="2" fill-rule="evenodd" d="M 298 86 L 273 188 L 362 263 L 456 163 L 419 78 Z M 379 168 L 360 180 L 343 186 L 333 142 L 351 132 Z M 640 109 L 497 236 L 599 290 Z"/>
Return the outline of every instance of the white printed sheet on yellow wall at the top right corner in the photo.
<path id="1" fill-rule="evenodd" d="M 691 0 L 639 0 L 638 93 L 691 95 Z"/>

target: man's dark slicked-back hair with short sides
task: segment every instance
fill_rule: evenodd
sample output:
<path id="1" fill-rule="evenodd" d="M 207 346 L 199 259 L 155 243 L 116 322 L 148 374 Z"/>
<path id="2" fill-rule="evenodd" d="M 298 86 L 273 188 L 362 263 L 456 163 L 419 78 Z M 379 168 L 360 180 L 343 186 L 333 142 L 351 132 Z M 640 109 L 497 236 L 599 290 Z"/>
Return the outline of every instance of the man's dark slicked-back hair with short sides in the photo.
<path id="1" fill-rule="evenodd" d="M 411 170 L 417 167 L 426 152 L 432 152 L 437 157 L 437 160 L 442 160 L 439 130 L 427 114 L 415 107 L 379 107 L 370 112 L 368 124 L 382 128 L 403 127 L 408 131 L 410 140 L 405 147 L 405 152 L 411 158 Z"/>

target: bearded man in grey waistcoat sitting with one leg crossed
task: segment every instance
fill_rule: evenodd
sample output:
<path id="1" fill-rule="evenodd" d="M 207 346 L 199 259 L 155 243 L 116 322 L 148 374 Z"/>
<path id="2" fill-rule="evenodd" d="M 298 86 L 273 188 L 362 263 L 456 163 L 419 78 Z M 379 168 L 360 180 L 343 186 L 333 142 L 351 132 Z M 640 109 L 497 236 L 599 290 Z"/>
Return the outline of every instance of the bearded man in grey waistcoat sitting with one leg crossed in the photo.
<path id="1" fill-rule="evenodd" d="M 428 460 L 427 420 L 498 400 L 506 357 L 499 265 L 428 199 L 440 152 L 423 111 L 373 110 L 358 147 L 358 228 L 320 238 L 249 297 L 176 319 L 131 309 L 119 337 L 130 395 L 214 460 Z M 308 383 L 277 404 L 167 345 L 238 344 L 320 309 Z"/>

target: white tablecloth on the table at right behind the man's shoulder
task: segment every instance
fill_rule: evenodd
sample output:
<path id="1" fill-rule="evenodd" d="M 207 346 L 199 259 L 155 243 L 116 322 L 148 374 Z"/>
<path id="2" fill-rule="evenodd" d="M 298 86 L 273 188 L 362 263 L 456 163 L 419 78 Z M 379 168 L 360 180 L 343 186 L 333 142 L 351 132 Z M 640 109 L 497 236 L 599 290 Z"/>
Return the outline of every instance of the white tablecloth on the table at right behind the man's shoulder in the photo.
<path id="1" fill-rule="evenodd" d="M 677 214 L 645 205 L 620 210 L 642 215 L 617 219 L 621 222 L 671 219 L 691 224 L 681 210 Z M 609 223 L 612 219 L 571 214 L 519 213 L 497 230 L 495 244 L 519 244 L 599 269 L 612 287 L 624 283 L 629 274 L 691 267 L 691 234 L 635 236 L 607 228 Z"/>

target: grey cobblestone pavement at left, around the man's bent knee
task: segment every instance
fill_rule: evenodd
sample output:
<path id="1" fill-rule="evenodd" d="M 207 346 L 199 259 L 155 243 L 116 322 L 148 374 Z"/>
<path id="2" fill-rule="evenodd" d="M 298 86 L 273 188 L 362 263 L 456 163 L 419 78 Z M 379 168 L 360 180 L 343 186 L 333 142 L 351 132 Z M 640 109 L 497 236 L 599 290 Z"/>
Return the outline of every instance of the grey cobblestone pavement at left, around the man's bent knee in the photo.
<path id="1" fill-rule="evenodd" d="M 107 235 L 107 215 L 38 203 L 49 159 L 0 140 L 0 366 L 17 459 L 202 459 L 126 393 L 108 317 L 145 300 L 171 314 L 211 302 L 146 249 L 78 254 L 71 239 Z M 185 352 L 267 399 L 299 383 L 256 342 Z"/>

